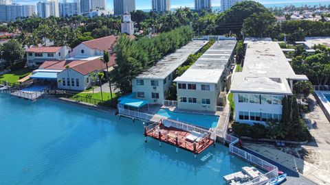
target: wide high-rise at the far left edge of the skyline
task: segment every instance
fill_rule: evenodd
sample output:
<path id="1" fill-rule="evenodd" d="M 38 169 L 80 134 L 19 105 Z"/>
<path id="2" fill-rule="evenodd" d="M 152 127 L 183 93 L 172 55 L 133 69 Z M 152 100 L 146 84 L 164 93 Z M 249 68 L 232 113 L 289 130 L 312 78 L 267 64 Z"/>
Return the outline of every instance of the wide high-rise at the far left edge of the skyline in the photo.
<path id="1" fill-rule="evenodd" d="M 35 5 L 0 5 L 0 22 L 15 21 L 19 17 L 28 17 L 34 14 L 36 14 Z"/>

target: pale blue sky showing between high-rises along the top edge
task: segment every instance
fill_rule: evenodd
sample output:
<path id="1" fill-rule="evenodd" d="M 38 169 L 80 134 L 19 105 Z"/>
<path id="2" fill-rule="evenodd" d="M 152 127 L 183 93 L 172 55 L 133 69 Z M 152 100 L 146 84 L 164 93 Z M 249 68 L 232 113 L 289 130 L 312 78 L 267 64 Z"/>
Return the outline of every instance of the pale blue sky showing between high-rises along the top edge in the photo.
<path id="1" fill-rule="evenodd" d="M 15 3 L 21 3 L 21 4 L 35 4 L 39 1 L 43 0 L 12 0 Z M 62 1 L 62 0 L 60 0 Z M 70 1 L 70 0 L 69 0 Z M 73 0 L 71 0 L 73 1 Z M 113 10 L 113 0 L 106 0 L 107 1 L 107 8 L 109 10 Z M 220 0 L 211 0 L 213 6 L 219 6 Z M 316 0 L 256 0 L 263 4 L 274 4 L 274 3 L 300 3 L 300 2 L 315 2 Z M 151 9 L 151 0 L 135 0 L 136 2 L 136 8 L 139 10 L 144 9 Z M 194 0 L 171 0 L 172 2 L 172 8 L 178 8 L 180 6 L 188 6 L 193 7 L 194 6 Z M 318 2 L 330 2 L 329 0 L 319 0 Z"/>

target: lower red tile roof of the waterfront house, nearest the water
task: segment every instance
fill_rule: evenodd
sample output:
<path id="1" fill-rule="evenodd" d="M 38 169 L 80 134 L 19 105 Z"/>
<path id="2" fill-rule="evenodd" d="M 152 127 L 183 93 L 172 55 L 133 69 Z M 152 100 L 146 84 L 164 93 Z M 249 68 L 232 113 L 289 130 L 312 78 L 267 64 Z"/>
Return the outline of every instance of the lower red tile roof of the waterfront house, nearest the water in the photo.
<path id="1" fill-rule="evenodd" d="M 109 64 L 109 67 L 112 66 Z M 100 60 L 100 58 L 95 60 L 88 60 L 87 62 L 84 62 L 82 64 L 78 64 L 76 66 L 72 66 L 74 71 L 77 71 L 78 73 L 82 75 L 88 75 L 89 73 L 92 73 L 94 71 L 102 71 L 104 69 L 107 69 L 107 66 Z"/>

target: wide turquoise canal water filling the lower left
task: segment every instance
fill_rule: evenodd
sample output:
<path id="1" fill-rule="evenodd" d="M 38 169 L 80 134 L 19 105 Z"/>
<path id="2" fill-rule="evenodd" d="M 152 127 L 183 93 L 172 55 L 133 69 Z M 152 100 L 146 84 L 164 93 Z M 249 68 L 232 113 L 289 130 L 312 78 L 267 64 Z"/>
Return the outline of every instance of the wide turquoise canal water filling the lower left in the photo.
<path id="1" fill-rule="evenodd" d="M 0 94 L 0 112 L 1 185 L 219 185 L 250 166 L 219 144 L 195 160 L 157 140 L 144 143 L 139 121 L 55 101 Z"/>

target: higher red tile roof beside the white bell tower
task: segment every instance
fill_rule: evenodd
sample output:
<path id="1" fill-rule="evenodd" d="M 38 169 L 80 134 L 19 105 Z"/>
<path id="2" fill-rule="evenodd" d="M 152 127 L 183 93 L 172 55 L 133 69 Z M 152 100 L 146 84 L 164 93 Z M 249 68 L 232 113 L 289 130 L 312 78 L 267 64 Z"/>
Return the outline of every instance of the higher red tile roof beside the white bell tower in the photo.
<path id="1" fill-rule="evenodd" d="M 100 51 L 110 51 L 111 47 L 115 44 L 115 40 L 118 36 L 106 36 L 102 38 L 96 38 L 94 40 L 88 40 L 82 42 L 84 45 L 90 49 L 98 49 Z"/>

